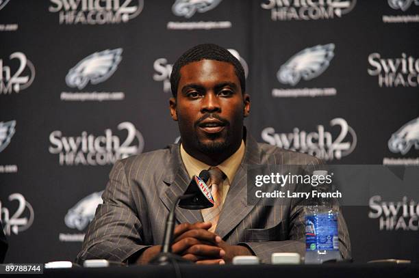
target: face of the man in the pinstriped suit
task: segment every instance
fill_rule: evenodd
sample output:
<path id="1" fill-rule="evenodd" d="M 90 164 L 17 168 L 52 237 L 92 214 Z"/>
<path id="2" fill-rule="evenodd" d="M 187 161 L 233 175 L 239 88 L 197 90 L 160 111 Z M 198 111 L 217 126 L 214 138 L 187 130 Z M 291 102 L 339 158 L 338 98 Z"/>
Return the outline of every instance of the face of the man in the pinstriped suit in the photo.
<path id="1" fill-rule="evenodd" d="M 185 149 L 211 154 L 238 148 L 250 100 L 242 94 L 233 65 L 203 59 L 183 66 L 180 74 L 170 113 L 179 122 Z"/>

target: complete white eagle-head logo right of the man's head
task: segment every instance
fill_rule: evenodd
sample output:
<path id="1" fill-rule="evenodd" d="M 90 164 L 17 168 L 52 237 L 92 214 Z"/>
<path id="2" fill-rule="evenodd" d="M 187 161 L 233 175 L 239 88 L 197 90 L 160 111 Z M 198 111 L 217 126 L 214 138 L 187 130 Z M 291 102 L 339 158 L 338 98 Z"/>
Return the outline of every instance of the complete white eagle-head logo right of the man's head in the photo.
<path id="1" fill-rule="evenodd" d="M 333 56 L 335 44 L 316 45 L 296 53 L 277 72 L 278 81 L 292 86 L 301 79 L 310 80 L 324 72 Z"/>

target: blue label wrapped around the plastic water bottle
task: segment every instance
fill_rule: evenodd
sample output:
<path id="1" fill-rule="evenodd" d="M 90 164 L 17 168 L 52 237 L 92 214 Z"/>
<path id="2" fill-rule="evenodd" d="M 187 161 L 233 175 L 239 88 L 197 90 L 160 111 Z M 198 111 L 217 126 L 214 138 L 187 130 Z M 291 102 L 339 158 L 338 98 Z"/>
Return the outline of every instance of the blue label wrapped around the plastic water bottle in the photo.
<path id="1" fill-rule="evenodd" d="M 305 216 L 307 250 L 339 250 L 338 216 L 336 213 Z"/>

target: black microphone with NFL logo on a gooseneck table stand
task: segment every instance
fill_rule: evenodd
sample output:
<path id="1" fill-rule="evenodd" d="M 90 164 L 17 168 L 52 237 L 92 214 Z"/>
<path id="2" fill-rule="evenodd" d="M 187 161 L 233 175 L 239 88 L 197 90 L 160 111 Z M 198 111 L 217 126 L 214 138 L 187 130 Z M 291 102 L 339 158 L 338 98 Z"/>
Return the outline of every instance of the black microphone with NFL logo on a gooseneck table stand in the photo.
<path id="1" fill-rule="evenodd" d="M 206 184 L 209 179 L 210 173 L 207 170 L 201 171 L 199 176 L 192 177 L 192 180 L 183 195 L 176 198 L 166 219 L 162 252 L 150 261 L 151 264 L 165 265 L 170 264 L 170 262 L 189 262 L 181 256 L 172 253 L 173 231 L 175 230 L 175 211 L 178 205 L 180 208 L 185 208 L 187 210 L 201 210 L 214 206 L 214 198 Z"/>

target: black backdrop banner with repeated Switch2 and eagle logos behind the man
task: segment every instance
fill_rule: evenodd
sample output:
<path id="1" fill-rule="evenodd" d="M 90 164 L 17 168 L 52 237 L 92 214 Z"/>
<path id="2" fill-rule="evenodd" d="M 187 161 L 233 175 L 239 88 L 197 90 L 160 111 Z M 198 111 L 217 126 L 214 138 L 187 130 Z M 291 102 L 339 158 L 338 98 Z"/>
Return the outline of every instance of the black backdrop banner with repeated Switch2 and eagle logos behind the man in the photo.
<path id="1" fill-rule="evenodd" d="M 73 260 L 116 160 L 179 137 L 172 65 L 228 48 L 257 141 L 419 165 L 418 0 L 0 0 L 6 262 Z M 419 261 L 415 196 L 344 207 L 353 258 Z"/>

